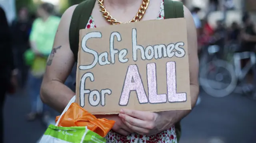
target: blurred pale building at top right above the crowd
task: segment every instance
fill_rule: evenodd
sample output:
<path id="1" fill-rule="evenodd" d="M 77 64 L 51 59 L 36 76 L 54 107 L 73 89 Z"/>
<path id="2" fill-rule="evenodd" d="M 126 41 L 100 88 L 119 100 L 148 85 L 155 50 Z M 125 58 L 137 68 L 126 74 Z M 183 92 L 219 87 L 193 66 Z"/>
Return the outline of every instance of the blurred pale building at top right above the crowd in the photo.
<path id="1" fill-rule="evenodd" d="M 256 0 L 248 1 L 256 2 Z M 184 0 L 183 2 L 190 9 L 194 6 L 201 8 L 198 14 L 200 18 L 207 20 L 212 27 L 215 27 L 217 20 L 224 20 L 228 26 L 232 22 L 241 24 L 246 0 Z M 252 4 L 250 6 L 253 7 Z"/>

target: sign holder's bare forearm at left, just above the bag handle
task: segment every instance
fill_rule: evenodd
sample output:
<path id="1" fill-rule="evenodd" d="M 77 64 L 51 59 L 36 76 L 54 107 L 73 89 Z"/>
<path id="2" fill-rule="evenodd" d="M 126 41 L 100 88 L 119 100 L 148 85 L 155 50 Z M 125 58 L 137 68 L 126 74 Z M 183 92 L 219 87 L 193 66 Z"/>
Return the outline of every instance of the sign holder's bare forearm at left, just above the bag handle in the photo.
<path id="1" fill-rule="evenodd" d="M 62 112 L 75 93 L 60 81 L 43 82 L 41 99 L 58 112 Z"/>

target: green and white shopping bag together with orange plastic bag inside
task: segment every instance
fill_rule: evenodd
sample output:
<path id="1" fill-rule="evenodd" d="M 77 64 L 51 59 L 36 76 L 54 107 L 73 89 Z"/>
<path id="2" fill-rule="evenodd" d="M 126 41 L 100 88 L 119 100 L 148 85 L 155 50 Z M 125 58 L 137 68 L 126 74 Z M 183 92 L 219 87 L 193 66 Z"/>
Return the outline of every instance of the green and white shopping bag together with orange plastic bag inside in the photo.
<path id="1" fill-rule="evenodd" d="M 60 117 L 58 117 L 56 124 L 48 127 L 39 143 L 106 143 L 104 135 L 114 126 L 114 121 L 96 119 L 95 116 L 80 108 L 79 105 L 76 106 L 73 103 L 75 99 L 74 96 L 70 100 Z M 84 121 L 84 123 L 76 125 L 74 118 L 70 117 L 71 115 L 82 118 L 76 118 L 76 120 Z M 62 123 L 62 121 L 64 122 Z M 66 127 L 58 126 L 62 124 Z M 68 125 L 72 126 L 68 127 Z M 90 129 L 94 129 L 95 132 L 101 135 Z"/>

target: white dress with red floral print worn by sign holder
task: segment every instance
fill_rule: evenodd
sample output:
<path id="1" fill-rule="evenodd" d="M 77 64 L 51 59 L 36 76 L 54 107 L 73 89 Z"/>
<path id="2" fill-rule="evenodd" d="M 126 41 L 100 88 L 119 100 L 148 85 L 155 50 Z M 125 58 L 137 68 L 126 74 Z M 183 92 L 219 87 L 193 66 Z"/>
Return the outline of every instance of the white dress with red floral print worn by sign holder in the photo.
<path id="1" fill-rule="evenodd" d="M 157 20 L 164 19 L 164 2 L 161 2 L 161 9 Z M 96 27 L 92 16 L 90 16 L 86 29 Z M 107 143 L 178 143 L 174 126 L 156 135 L 146 136 L 133 133 L 128 136 L 120 135 L 111 130 L 106 136 Z"/>

